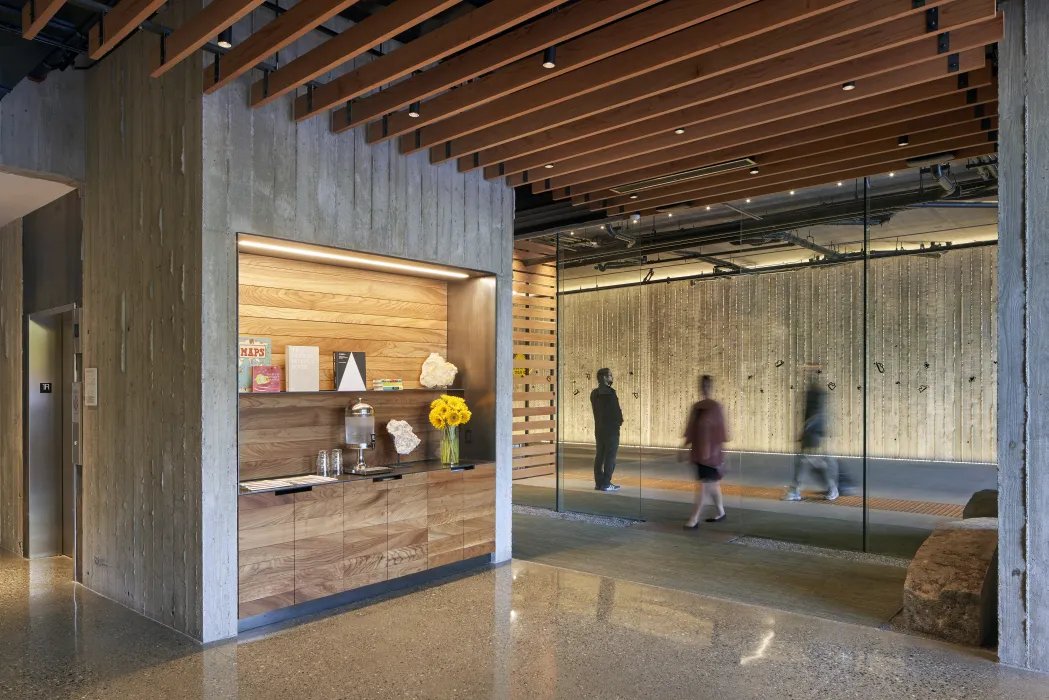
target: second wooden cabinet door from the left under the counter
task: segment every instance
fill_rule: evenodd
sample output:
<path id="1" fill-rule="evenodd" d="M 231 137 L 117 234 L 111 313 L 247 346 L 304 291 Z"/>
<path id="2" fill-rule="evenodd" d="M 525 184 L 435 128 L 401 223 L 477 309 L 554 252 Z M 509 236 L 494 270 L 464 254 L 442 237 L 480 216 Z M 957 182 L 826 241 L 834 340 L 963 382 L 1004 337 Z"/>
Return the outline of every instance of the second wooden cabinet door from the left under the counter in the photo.
<path id="1" fill-rule="evenodd" d="M 342 593 L 342 484 L 295 494 L 295 602 Z"/>

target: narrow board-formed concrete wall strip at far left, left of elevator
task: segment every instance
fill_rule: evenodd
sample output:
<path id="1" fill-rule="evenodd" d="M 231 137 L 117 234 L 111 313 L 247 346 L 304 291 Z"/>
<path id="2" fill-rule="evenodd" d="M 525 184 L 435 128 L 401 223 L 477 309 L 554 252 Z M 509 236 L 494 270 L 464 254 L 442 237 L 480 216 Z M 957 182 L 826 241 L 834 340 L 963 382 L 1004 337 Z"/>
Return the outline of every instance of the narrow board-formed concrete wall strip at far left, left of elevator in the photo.
<path id="1" fill-rule="evenodd" d="M 0 549 L 22 555 L 22 219 L 0 227 Z"/>

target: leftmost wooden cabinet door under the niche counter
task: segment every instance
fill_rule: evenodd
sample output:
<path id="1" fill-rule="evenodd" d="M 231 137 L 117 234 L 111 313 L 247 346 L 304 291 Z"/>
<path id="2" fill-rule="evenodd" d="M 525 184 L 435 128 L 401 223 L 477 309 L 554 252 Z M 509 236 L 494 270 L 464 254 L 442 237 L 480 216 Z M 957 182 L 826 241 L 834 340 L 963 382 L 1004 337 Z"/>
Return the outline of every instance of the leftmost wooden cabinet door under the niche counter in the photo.
<path id="1" fill-rule="evenodd" d="M 295 496 L 237 499 L 237 593 L 240 617 L 295 602 Z"/>

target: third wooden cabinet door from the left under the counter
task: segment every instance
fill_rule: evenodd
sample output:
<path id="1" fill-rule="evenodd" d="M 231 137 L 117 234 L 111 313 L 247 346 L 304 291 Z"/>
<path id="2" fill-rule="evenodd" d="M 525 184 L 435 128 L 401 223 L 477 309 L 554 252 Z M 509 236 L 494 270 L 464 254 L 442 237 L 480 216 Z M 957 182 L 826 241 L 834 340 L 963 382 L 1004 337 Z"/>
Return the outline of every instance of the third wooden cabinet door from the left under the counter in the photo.
<path id="1" fill-rule="evenodd" d="M 343 585 L 345 590 L 386 580 L 388 482 L 346 484 L 343 496 Z"/>

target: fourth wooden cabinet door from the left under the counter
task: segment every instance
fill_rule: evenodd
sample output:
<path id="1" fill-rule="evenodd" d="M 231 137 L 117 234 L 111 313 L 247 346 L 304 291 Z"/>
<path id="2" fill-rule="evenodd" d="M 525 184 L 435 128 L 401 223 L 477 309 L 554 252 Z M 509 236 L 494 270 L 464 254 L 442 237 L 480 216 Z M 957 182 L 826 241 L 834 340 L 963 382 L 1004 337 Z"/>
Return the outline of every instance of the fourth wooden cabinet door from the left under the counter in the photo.
<path id="1" fill-rule="evenodd" d="M 426 570 L 428 538 L 427 479 L 404 474 L 388 481 L 388 543 L 386 567 L 390 578 Z"/>

